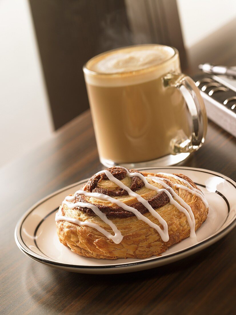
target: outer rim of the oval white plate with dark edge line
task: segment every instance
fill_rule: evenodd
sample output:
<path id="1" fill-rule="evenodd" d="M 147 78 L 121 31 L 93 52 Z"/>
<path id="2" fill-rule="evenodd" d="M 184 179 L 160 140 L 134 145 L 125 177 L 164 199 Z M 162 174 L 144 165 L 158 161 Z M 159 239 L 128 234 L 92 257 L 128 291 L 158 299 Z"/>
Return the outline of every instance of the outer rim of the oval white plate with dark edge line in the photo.
<path id="1" fill-rule="evenodd" d="M 193 171 L 198 171 L 198 172 L 203 172 L 203 173 L 207 173 L 207 174 L 211 174 L 211 175 L 215 175 L 215 176 L 218 176 L 218 177 L 221 177 L 223 178 L 224 180 L 226 180 L 227 182 L 229 182 L 235 189 L 236 189 L 236 182 L 235 180 L 233 180 L 231 177 L 229 176 L 226 176 L 222 173 L 219 173 L 219 172 L 216 172 L 216 171 L 212 171 L 212 170 L 208 170 L 208 169 L 202 169 L 202 168 L 195 168 L 195 167 L 188 167 L 188 166 L 156 166 L 156 167 L 141 167 L 141 168 L 137 168 L 137 170 L 145 170 L 145 169 L 186 169 L 186 170 L 193 170 Z M 223 176 L 219 176 L 219 175 L 223 175 Z M 230 180 L 228 180 L 230 179 Z M 151 260 L 141 260 L 141 261 L 136 261 L 136 262 L 130 262 L 130 263 L 121 263 L 121 264 L 109 264 L 109 265 L 95 265 L 95 266 L 92 266 L 92 265 L 73 265 L 73 264 L 66 264 L 66 263 L 61 263 L 61 262 L 57 262 L 57 261 L 53 261 L 53 260 L 48 260 L 47 258 L 43 258 L 43 256 L 41 255 L 38 255 L 36 253 L 34 254 L 31 254 L 26 248 L 27 245 L 25 245 L 26 248 L 24 248 L 22 246 L 22 244 L 20 243 L 19 239 L 18 239 L 18 232 L 21 230 L 21 227 L 22 227 L 22 224 L 23 222 L 25 221 L 25 219 L 28 217 L 28 215 L 34 210 L 36 209 L 41 203 L 47 201 L 48 199 L 52 198 L 53 196 L 69 189 L 70 187 L 74 187 L 74 186 L 77 186 L 79 185 L 80 183 L 83 183 L 85 182 L 86 180 L 88 179 L 83 179 L 83 180 L 80 180 L 78 182 L 75 182 L 73 184 L 70 184 L 68 186 L 65 186 L 63 188 L 60 188 L 58 189 L 57 191 L 55 192 L 52 192 L 51 194 L 47 195 L 46 197 L 44 198 L 41 198 L 38 202 L 36 202 L 35 204 L 33 204 L 32 207 L 30 207 L 30 209 L 28 209 L 21 217 L 20 219 L 18 220 L 17 224 L 16 224 L 16 227 L 15 227 L 15 231 L 14 231 L 14 238 L 15 238 L 15 242 L 17 244 L 17 246 L 19 247 L 19 249 L 27 256 L 29 256 L 31 259 L 35 260 L 35 261 L 38 261 L 39 263 L 42 263 L 42 264 L 47 264 L 47 266 L 52 266 L 52 267 L 64 267 L 64 268 L 71 268 L 71 269 L 76 269 L 76 270 L 83 270 L 85 271 L 86 269 L 88 270 L 107 270 L 107 269 L 110 269 L 110 268 L 116 268 L 117 269 L 123 269 L 123 268 L 127 268 L 127 267 L 137 267 L 139 265 L 149 265 L 150 263 L 154 263 L 157 262 L 157 261 L 163 261 L 163 260 L 167 260 L 167 263 L 170 263 L 172 262 L 173 260 L 178 260 L 178 259 L 182 259 L 184 258 L 183 256 L 185 256 L 185 253 L 186 252 L 189 252 L 190 255 L 192 254 L 192 252 L 195 252 L 196 248 L 200 249 L 201 247 L 205 248 L 207 246 L 210 246 L 211 244 L 215 243 L 217 241 L 217 239 L 220 239 L 222 238 L 224 235 L 226 235 L 228 232 L 230 232 L 234 226 L 236 226 L 236 217 L 233 219 L 233 221 L 228 225 L 226 226 L 222 231 L 210 236 L 209 238 L 206 238 L 205 240 L 201 241 L 200 243 L 197 243 L 193 246 L 191 246 L 190 248 L 186 248 L 186 249 L 182 249 L 180 251 L 178 251 L 177 253 L 172 253 L 168 256 L 163 256 L 163 257 L 156 257 L 154 259 L 151 259 Z M 233 182 L 232 182 L 232 181 Z M 20 235 L 20 238 L 21 238 L 21 234 Z M 24 241 L 23 239 L 21 238 L 21 241 L 23 244 Z M 177 259 L 175 259 L 177 258 Z M 168 262 L 169 261 L 169 262 Z"/>

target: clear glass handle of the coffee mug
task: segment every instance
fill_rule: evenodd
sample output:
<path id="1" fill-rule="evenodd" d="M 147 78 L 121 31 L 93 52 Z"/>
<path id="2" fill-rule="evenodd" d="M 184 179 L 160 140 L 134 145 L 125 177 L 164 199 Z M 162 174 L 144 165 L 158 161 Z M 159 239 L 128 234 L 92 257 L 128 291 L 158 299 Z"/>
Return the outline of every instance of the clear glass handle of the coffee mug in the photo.
<path id="1" fill-rule="evenodd" d="M 184 97 L 192 117 L 192 131 L 189 139 L 173 139 L 173 153 L 187 153 L 198 150 L 204 143 L 207 129 L 206 108 L 195 82 L 187 75 L 168 73 L 163 78 L 165 87 L 175 87 Z"/>

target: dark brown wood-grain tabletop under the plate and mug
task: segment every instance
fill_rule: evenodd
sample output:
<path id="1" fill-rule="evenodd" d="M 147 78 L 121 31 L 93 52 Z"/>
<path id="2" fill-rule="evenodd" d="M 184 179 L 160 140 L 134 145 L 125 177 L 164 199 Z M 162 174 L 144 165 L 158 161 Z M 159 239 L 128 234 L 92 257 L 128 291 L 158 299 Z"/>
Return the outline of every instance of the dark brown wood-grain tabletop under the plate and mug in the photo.
<path id="1" fill-rule="evenodd" d="M 179 165 L 236 179 L 236 139 L 209 122 L 206 142 Z M 44 145 L 0 170 L 2 314 L 233 314 L 236 229 L 181 261 L 142 272 L 86 275 L 43 266 L 14 241 L 39 199 L 102 169 L 87 111 Z"/>

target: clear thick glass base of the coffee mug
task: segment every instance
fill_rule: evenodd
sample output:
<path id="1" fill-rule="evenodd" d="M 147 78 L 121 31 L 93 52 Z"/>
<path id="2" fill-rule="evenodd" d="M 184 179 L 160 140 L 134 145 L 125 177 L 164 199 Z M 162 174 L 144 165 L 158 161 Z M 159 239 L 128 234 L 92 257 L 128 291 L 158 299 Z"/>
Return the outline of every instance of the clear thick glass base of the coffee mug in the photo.
<path id="1" fill-rule="evenodd" d="M 137 163 L 116 163 L 112 160 L 105 159 L 100 157 L 100 162 L 106 167 L 113 167 L 113 166 L 123 166 L 128 169 L 136 169 L 142 167 L 154 167 L 154 166 L 170 166 L 177 164 L 181 161 L 184 161 L 190 153 L 178 153 L 176 155 L 166 155 L 164 157 L 157 158 L 151 161 L 145 162 L 137 162 Z"/>

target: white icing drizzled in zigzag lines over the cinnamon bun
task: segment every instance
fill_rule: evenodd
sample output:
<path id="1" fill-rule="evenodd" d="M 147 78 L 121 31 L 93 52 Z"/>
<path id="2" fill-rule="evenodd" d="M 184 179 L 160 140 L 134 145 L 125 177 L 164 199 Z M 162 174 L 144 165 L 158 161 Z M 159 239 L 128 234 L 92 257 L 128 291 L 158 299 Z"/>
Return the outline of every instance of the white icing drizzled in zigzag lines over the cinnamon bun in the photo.
<path id="1" fill-rule="evenodd" d="M 146 180 L 145 176 L 143 176 L 140 173 L 130 173 L 128 171 L 128 169 L 121 167 L 123 169 L 126 170 L 127 176 L 132 178 L 134 176 L 139 177 L 141 180 L 143 180 L 145 187 L 151 189 L 151 190 L 155 190 L 158 193 L 160 192 L 165 192 L 167 194 L 167 196 L 169 197 L 170 203 L 173 204 L 179 211 L 184 212 L 184 214 L 187 217 L 189 226 L 190 226 L 190 238 L 195 238 L 196 234 L 195 234 L 195 218 L 194 218 L 194 214 L 192 212 L 191 207 L 185 203 L 185 201 L 180 198 L 178 196 L 178 194 L 176 194 L 176 192 L 174 192 L 174 190 L 168 186 L 165 182 L 163 182 L 163 180 L 167 180 L 168 182 L 170 182 L 173 186 L 177 187 L 177 188 L 182 188 L 187 190 L 188 192 L 191 192 L 193 194 L 195 194 L 197 197 L 201 198 L 201 200 L 204 202 L 206 208 L 208 208 L 208 203 L 206 201 L 205 196 L 203 195 L 202 192 L 200 192 L 199 190 L 195 189 L 191 184 L 189 184 L 189 182 L 187 180 L 184 180 L 176 175 L 173 174 L 167 174 L 167 173 L 158 173 L 158 174 L 162 174 L 162 175 L 167 175 L 170 177 L 174 177 L 178 180 L 181 180 L 182 182 L 186 183 L 187 185 L 189 185 L 192 189 L 183 186 L 183 185 L 179 185 L 179 184 L 175 184 L 172 183 L 170 180 L 166 179 L 166 178 L 162 178 L 162 177 L 156 177 L 156 176 L 151 176 L 148 175 L 148 178 L 151 178 L 151 180 L 161 184 L 164 188 L 158 188 L 155 187 L 151 184 L 148 183 L 148 181 Z M 114 235 L 112 235 L 111 233 L 107 232 L 105 229 L 103 229 L 101 226 L 91 222 L 91 221 L 79 221 L 77 219 L 74 218 L 70 218 L 70 217 L 66 217 L 63 216 L 59 213 L 56 214 L 55 217 L 55 221 L 68 221 L 71 223 L 75 223 L 78 224 L 79 226 L 91 226 L 93 228 L 95 228 L 96 230 L 98 230 L 99 232 L 101 232 L 103 235 L 105 235 L 107 238 L 113 240 L 114 243 L 119 244 L 122 239 L 123 236 L 121 234 L 121 232 L 117 229 L 116 225 L 107 218 L 107 216 L 102 213 L 102 211 L 100 211 L 98 209 L 97 206 L 91 204 L 91 203 L 84 203 L 84 202 L 76 202 L 76 203 L 71 203 L 71 201 L 75 200 L 75 196 L 76 195 L 85 195 L 86 197 L 93 197 L 93 198 L 98 198 L 98 199 L 102 199 L 102 200 L 107 200 L 111 203 L 117 204 L 119 207 L 123 208 L 126 211 L 130 211 L 132 213 L 134 213 L 134 215 L 136 215 L 136 217 L 139 220 L 142 220 L 144 222 L 146 222 L 149 226 L 151 226 L 152 228 L 156 229 L 156 231 L 160 234 L 162 240 L 164 242 L 167 242 L 169 240 L 169 234 L 168 234 L 168 226 L 167 226 L 167 222 L 151 207 L 151 205 L 148 203 L 148 201 L 146 199 L 144 199 L 143 197 L 141 197 L 139 194 L 133 192 L 128 186 L 124 185 L 120 180 L 118 180 L 117 178 L 115 178 L 108 170 L 102 170 L 98 173 L 96 173 L 96 175 L 98 174 L 102 174 L 105 173 L 108 177 L 109 180 L 111 180 L 112 182 L 114 182 L 117 186 L 119 186 L 120 188 L 126 190 L 129 194 L 129 196 L 136 198 L 140 203 L 142 203 L 147 209 L 148 211 L 155 217 L 158 219 L 158 221 L 160 222 L 160 224 L 162 224 L 163 226 L 163 230 L 161 229 L 160 226 L 158 226 L 157 224 L 153 223 L 151 220 L 149 220 L 147 217 L 145 217 L 144 215 L 142 215 L 137 209 L 130 207 L 128 205 L 126 205 L 125 203 L 123 203 L 122 201 L 112 198 L 110 196 L 107 196 L 105 194 L 101 194 L 101 193 L 97 193 L 97 192 L 86 192 L 83 190 L 78 190 L 77 192 L 74 193 L 73 196 L 67 196 L 65 198 L 65 200 L 63 201 L 64 204 L 67 205 L 67 207 L 69 209 L 74 209 L 75 207 L 82 207 L 82 208 L 90 208 L 93 210 L 93 212 L 98 215 L 105 223 L 107 223 L 107 225 L 109 225 L 113 232 Z M 174 200 L 174 198 L 172 197 L 171 193 L 167 191 L 167 189 L 169 189 L 171 191 L 171 193 L 173 194 L 173 196 L 175 197 L 176 200 L 179 201 L 179 203 Z M 63 204 L 62 203 L 62 204 Z M 186 209 L 185 209 L 185 208 Z"/>

